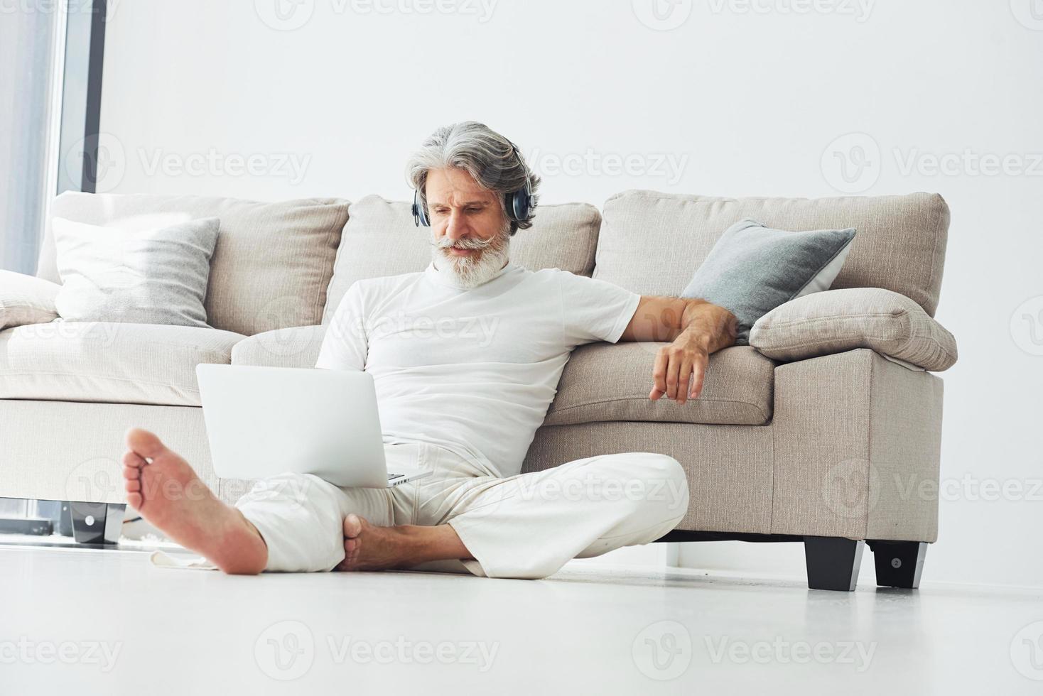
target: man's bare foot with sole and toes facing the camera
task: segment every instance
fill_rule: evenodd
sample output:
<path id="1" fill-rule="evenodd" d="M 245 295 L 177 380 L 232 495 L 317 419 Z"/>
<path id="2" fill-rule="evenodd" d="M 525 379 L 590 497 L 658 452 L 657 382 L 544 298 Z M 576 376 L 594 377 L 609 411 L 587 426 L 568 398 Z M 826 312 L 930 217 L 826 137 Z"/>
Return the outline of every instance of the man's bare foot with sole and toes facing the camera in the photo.
<path id="1" fill-rule="evenodd" d="M 264 570 L 264 539 L 242 513 L 218 500 L 188 462 L 147 430 L 127 430 L 126 443 L 123 478 L 131 507 L 225 573 Z"/>

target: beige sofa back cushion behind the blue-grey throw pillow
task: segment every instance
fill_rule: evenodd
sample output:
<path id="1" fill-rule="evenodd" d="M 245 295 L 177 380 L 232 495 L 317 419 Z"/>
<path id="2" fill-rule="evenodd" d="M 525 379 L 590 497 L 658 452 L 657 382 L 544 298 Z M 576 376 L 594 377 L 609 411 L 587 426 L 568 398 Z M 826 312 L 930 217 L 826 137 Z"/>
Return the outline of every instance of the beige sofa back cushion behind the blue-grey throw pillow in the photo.
<path id="1" fill-rule="evenodd" d="M 882 288 L 935 315 L 949 208 L 937 194 L 714 198 L 627 191 L 605 202 L 593 277 L 642 295 L 679 295 L 713 244 L 744 218 L 792 231 L 857 229 L 833 289 Z"/>

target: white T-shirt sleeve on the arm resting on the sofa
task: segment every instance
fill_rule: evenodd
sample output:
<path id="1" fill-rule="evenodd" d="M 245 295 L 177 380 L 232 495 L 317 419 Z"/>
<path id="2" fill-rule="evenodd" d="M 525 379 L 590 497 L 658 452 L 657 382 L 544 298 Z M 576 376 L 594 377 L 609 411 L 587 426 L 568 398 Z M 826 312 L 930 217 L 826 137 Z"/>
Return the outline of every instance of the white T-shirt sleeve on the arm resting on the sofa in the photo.
<path id="1" fill-rule="evenodd" d="M 559 272 L 558 282 L 565 335 L 577 346 L 596 341 L 618 341 L 641 299 L 637 293 L 607 280 L 567 271 Z"/>

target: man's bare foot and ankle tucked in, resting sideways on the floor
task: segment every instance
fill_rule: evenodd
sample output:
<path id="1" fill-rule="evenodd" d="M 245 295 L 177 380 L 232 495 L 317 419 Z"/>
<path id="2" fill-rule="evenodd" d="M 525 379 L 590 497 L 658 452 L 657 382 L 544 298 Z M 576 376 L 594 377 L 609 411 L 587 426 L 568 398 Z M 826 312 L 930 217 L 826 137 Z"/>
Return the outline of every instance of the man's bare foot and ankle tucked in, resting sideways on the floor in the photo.
<path id="1" fill-rule="evenodd" d="M 335 570 L 392 570 L 428 561 L 471 557 L 447 524 L 379 527 L 358 515 L 348 515 L 344 518 L 344 560 Z"/>

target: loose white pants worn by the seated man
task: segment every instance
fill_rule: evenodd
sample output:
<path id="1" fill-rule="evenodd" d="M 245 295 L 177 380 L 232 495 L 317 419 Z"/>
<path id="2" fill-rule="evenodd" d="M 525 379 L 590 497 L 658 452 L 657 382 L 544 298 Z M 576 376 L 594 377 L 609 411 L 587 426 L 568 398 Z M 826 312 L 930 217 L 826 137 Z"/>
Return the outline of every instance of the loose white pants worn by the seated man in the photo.
<path id="1" fill-rule="evenodd" d="M 450 524 L 475 561 L 417 570 L 539 578 L 574 557 L 647 544 L 688 507 L 677 459 L 626 452 L 501 478 L 484 463 L 427 443 L 386 445 L 388 471 L 432 474 L 392 489 L 339 488 L 310 474 L 258 482 L 236 503 L 268 545 L 268 571 L 329 571 L 344 560 L 344 517 L 381 525 Z"/>

